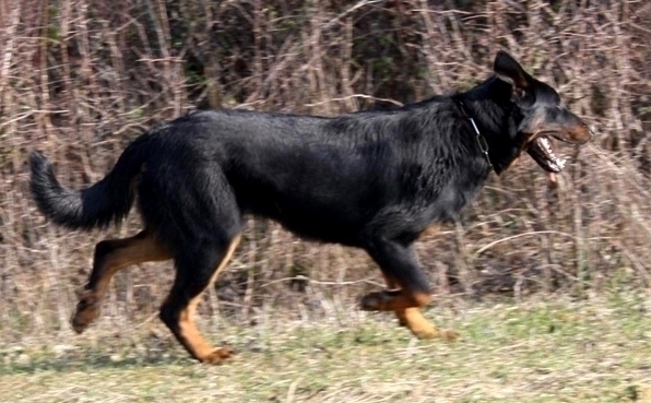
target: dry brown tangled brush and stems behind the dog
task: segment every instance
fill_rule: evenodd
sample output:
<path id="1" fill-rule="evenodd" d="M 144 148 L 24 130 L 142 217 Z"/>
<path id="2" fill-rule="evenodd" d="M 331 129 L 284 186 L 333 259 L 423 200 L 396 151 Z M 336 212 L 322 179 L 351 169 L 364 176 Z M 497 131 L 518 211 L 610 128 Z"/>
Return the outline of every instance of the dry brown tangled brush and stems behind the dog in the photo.
<path id="1" fill-rule="evenodd" d="M 570 158 L 558 188 L 522 158 L 455 226 L 421 242 L 436 293 L 580 297 L 613 278 L 649 289 L 650 21 L 644 1 L 2 0 L 2 340 L 67 329 L 92 246 L 107 236 L 45 223 L 27 192 L 28 151 L 82 187 L 143 130 L 188 110 L 390 108 L 472 85 L 500 48 L 559 87 L 597 134 L 581 150 L 563 147 Z M 357 251 L 298 241 L 264 222 L 246 236 L 206 312 L 329 313 L 381 283 Z M 105 311 L 154 315 L 169 269 L 118 275 Z"/>

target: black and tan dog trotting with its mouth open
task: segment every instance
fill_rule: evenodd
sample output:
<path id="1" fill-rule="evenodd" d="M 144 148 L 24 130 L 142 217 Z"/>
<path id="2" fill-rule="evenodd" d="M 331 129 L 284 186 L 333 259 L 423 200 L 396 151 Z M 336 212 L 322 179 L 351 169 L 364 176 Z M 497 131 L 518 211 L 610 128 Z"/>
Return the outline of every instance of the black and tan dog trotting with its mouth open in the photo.
<path id="1" fill-rule="evenodd" d="M 393 311 L 418 337 L 453 337 L 421 313 L 431 293 L 414 242 L 454 220 L 490 173 L 501 174 L 523 151 L 554 175 L 565 162 L 553 139 L 582 144 L 591 137 L 553 87 L 499 51 L 494 74 L 472 90 L 393 110 L 332 118 L 196 111 L 137 138 L 104 179 L 81 191 L 61 186 L 51 163 L 33 151 L 31 190 L 51 222 L 85 230 L 120 222 L 138 195 L 144 229 L 96 245 L 72 318 L 78 333 L 99 316 L 116 272 L 174 260 L 159 318 L 192 357 L 221 363 L 233 352 L 213 348 L 193 315 L 233 256 L 246 215 L 364 249 L 387 289 L 364 296 L 362 309 Z"/>

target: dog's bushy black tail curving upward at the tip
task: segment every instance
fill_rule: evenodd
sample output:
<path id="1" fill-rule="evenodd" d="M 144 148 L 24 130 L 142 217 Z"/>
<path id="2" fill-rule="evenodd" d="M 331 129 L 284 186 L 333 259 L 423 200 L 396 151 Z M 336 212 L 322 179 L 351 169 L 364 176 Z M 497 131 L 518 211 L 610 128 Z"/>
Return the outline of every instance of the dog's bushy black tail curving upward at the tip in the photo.
<path id="1" fill-rule="evenodd" d="M 34 200 L 46 217 L 68 228 L 104 228 L 111 222 L 118 223 L 129 214 L 133 204 L 132 180 L 140 174 L 143 163 L 139 154 L 133 146 L 127 147 L 104 179 L 90 188 L 74 190 L 61 186 L 52 164 L 34 151 L 29 155 L 29 187 Z"/>

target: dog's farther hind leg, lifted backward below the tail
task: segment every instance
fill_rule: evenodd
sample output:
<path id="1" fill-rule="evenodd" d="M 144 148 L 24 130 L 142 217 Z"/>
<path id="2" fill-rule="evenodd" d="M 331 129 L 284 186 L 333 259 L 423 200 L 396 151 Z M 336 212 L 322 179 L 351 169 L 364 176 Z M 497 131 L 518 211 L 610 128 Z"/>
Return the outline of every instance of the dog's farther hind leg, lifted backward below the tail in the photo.
<path id="1" fill-rule="evenodd" d="M 146 229 L 125 239 L 107 239 L 95 246 L 93 271 L 76 304 L 72 328 L 83 332 L 99 316 L 102 300 L 113 276 L 131 264 L 171 259 L 167 249 Z"/>

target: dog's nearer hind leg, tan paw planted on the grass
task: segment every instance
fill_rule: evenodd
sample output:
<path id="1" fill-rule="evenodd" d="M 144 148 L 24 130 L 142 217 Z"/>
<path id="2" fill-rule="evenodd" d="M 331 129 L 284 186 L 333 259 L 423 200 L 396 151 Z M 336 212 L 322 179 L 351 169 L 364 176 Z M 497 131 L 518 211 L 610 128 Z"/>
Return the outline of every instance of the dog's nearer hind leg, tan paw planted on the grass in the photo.
<path id="1" fill-rule="evenodd" d="M 229 348 L 213 348 L 194 323 L 194 311 L 201 294 L 224 270 L 239 242 L 239 235 L 228 240 L 196 245 L 193 250 L 176 257 L 176 278 L 161 307 L 161 319 L 192 357 L 202 363 L 218 364 L 229 358 Z"/>

